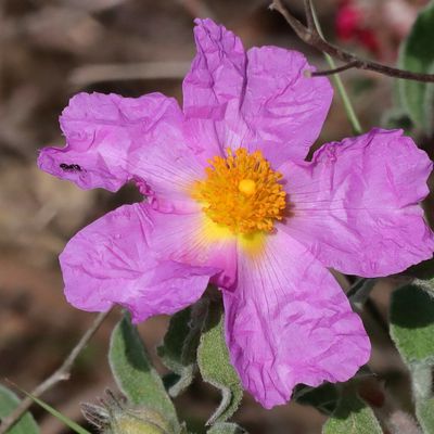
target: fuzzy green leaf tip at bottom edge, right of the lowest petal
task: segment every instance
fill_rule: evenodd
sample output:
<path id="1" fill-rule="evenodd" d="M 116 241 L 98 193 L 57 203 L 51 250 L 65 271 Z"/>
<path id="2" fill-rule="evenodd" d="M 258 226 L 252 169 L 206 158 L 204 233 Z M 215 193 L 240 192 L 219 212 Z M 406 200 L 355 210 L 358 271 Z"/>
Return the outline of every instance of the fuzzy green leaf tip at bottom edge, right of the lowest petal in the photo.
<path id="1" fill-rule="evenodd" d="M 333 417 L 322 427 L 322 434 L 382 434 L 373 411 L 356 395 L 345 394 Z"/>

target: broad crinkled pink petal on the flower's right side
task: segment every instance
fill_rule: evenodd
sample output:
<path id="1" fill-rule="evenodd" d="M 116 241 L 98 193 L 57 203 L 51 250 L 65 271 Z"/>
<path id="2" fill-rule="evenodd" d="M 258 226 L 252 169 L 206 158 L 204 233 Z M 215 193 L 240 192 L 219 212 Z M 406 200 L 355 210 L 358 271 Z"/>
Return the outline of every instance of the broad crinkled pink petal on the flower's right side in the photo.
<path id="1" fill-rule="evenodd" d="M 323 145 L 311 163 L 285 163 L 286 233 L 328 267 L 387 276 L 431 258 L 420 202 L 432 163 L 401 131 L 373 129 Z"/>

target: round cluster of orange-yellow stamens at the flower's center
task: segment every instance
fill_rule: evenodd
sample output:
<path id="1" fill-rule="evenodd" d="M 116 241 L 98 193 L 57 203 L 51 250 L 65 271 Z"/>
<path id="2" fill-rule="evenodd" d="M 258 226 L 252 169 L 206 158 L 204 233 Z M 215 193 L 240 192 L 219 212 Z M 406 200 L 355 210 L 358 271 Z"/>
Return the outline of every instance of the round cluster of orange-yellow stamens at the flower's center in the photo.
<path id="1" fill-rule="evenodd" d="M 270 231 L 286 206 L 282 175 L 271 169 L 260 151 L 228 150 L 227 158 L 208 161 L 207 178 L 194 186 L 193 197 L 216 224 L 235 233 Z"/>

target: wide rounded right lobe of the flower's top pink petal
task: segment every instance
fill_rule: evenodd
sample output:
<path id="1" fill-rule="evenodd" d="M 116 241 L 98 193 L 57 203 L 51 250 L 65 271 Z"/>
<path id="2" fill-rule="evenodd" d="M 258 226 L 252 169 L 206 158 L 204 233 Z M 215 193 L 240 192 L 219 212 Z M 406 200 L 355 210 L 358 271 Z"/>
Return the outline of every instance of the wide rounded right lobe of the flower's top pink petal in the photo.
<path id="1" fill-rule="evenodd" d="M 275 167 L 303 161 L 329 113 L 333 89 L 297 51 L 277 47 L 247 52 L 247 84 L 241 116 L 247 125 L 242 144 L 259 149 Z"/>

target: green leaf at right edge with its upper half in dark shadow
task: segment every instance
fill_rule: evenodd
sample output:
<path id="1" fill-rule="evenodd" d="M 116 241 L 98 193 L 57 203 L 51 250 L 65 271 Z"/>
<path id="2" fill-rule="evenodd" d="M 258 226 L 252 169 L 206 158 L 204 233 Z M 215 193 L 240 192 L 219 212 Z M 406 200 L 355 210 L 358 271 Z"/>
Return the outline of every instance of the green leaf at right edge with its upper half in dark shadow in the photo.
<path id="1" fill-rule="evenodd" d="M 434 298 L 416 285 L 395 291 L 391 335 L 408 365 L 434 361 Z"/>

